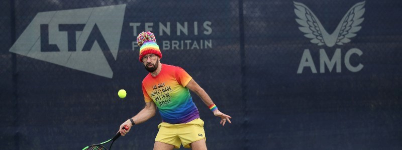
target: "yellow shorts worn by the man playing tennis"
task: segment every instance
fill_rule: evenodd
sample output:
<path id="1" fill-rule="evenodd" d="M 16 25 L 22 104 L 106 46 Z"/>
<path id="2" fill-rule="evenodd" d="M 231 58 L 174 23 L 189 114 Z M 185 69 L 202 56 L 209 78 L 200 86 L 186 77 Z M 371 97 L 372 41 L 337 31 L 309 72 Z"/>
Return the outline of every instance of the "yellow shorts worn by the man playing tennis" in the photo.
<path id="1" fill-rule="evenodd" d="M 162 122 L 158 125 L 159 131 L 156 135 L 155 141 L 160 141 L 174 145 L 174 148 L 183 147 L 189 148 L 189 143 L 206 139 L 204 131 L 204 121 L 196 118 L 187 123 L 170 124 Z"/>

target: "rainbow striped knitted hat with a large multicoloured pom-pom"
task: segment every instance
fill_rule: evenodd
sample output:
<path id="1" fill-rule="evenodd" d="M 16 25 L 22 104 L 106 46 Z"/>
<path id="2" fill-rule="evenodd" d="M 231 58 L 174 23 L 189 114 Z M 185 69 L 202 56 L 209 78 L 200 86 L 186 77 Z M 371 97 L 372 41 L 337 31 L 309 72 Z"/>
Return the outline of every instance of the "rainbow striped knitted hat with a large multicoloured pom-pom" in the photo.
<path id="1" fill-rule="evenodd" d="M 156 38 L 154 33 L 147 31 L 141 32 L 137 36 L 137 43 L 140 47 L 140 61 L 142 62 L 142 57 L 148 53 L 153 53 L 162 57 L 162 53 L 159 50 L 158 44 L 156 44 Z"/>

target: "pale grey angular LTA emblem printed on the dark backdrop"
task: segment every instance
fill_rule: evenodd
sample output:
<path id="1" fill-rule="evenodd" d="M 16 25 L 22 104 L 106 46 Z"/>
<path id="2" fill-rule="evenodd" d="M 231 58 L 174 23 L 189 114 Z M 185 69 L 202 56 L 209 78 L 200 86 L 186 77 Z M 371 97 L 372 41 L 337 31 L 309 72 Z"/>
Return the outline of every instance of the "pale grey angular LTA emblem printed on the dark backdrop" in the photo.
<path id="1" fill-rule="evenodd" d="M 10 52 L 112 78 L 126 5 L 39 12 Z"/>

